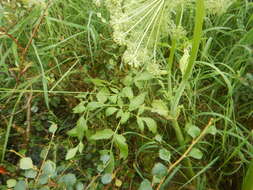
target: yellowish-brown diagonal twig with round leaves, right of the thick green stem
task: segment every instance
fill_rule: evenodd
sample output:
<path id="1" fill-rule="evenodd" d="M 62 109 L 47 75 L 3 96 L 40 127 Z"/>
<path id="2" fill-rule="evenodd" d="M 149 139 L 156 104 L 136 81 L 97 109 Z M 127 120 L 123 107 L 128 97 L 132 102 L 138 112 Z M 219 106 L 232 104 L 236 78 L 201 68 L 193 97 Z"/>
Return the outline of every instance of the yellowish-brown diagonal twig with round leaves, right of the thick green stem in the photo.
<path id="1" fill-rule="evenodd" d="M 209 120 L 208 124 L 205 126 L 204 130 L 200 133 L 200 135 L 192 141 L 191 145 L 187 148 L 187 150 L 184 152 L 184 154 L 168 168 L 167 173 L 169 173 L 171 170 L 173 170 L 183 159 L 185 159 L 188 156 L 188 154 L 190 153 L 192 148 L 205 136 L 206 131 L 212 125 L 212 123 L 213 123 L 213 118 L 211 118 Z M 163 179 L 160 181 L 156 190 L 159 190 L 161 188 L 161 185 L 165 181 L 165 178 L 166 178 L 166 176 L 163 177 Z"/>

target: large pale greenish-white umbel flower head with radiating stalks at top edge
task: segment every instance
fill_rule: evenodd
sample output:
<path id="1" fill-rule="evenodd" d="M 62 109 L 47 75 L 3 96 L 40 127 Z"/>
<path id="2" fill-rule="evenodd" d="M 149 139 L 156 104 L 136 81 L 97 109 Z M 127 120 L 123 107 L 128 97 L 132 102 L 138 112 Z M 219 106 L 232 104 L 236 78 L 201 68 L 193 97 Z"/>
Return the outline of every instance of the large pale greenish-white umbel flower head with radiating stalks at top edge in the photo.
<path id="1" fill-rule="evenodd" d="M 94 0 L 101 4 L 102 0 Z M 205 0 L 212 12 L 225 10 L 229 0 Z M 233 0 L 231 0 L 233 1 Z M 191 6 L 195 0 L 104 0 L 110 12 L 114 41 L 126 46 L 123 61 L 133 67 L 157 60 L 158 42 L 169 35 L 184 38 L 185 29 L 174 23 L 178 9 Z"/>

